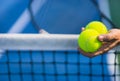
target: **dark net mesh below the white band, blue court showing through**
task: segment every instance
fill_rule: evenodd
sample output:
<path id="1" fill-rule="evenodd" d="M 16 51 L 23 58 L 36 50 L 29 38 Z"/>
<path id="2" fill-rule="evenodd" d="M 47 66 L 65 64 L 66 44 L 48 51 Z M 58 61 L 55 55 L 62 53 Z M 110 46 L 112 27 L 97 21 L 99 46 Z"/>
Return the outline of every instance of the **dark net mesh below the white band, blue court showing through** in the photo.
<path id="1" fill-rule="evenodd" d="M 117 55 L 94 58 L 78 51 L 5 51 L 0 59 L 0 81 L 119 81 Z M 106 57 L 111 56 L 111 62 Z"/>

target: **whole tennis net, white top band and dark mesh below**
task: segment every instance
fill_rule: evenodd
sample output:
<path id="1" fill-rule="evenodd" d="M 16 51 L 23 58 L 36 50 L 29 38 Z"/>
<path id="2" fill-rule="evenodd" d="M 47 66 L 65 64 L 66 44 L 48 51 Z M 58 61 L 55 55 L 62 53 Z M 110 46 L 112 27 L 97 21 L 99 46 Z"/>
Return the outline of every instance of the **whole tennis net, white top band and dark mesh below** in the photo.
<path id="1" fill-rule="evenodd" d="M 78 35 L 0 34 L 0 81 L 119 81 L 119 47 L 88 58 Z"/>

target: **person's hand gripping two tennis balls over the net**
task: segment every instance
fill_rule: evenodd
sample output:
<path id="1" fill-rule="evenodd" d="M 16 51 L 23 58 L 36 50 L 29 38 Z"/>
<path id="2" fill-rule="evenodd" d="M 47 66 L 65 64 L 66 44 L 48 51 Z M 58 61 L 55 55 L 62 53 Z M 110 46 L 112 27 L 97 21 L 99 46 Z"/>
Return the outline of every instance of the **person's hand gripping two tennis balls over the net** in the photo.
<path id="1" fill-rule="evenodd" d="M 82 28 L 82 31 L 84 31 L 84 28 Z M 117 45 L 120 45 L 120 29 L 111 29 L 107 34 L 98 36 L 98 40 L 101 41 L 103 44 L 96 52 L 88 53 L 88 52 L 84 52 L 80 48 L 78 48 L 78 50 L 84 56 L 90 58 L 104 54 L 105 52 L 116 47 Z"/>

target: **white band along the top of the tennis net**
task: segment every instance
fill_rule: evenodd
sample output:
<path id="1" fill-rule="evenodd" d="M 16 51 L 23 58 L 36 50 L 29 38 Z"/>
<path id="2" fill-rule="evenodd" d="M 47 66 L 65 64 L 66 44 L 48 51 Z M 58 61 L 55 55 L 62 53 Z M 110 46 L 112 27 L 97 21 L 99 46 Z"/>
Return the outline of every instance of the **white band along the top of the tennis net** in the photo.
<path id="1" fill-rule="evenodd" d="M 77 50 L 79 35 L 0 34 L 2 50 Z"/>

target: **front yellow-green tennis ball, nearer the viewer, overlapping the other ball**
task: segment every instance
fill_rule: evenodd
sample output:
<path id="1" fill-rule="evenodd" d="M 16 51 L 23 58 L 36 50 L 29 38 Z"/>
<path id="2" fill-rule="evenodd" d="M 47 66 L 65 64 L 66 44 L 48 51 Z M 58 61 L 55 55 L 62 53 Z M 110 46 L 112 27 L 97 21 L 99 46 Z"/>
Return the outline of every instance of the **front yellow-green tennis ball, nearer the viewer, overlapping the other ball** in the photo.
<path id="1" fill-rule="evenodd" d="M 101 42 L 97 39 L 100 34 L 93 29 L 84 30 L 78 38 L 79 47 L 85 52 L 95 52 L 101 47 Z"/>

